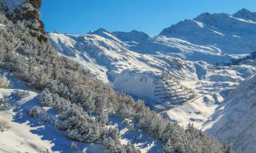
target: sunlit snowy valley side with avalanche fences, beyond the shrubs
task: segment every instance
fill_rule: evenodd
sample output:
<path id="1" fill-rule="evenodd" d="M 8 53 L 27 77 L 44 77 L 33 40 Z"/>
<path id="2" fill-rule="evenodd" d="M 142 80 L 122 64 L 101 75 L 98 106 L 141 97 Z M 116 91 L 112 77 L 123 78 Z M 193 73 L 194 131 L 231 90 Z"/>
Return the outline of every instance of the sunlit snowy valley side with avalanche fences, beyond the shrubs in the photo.
<path id="1" fill-rule="evenodd" d="M 193 122 L 201 128 L 227 94 L 256 71 L 255 61 L 216 67 L 203 61 L 173 58 L 169 54 L 139 54 L 131 51 L 126 41 L 102 29 L 96 34 L 49 33 L 48 37 L 60 54 L 90 69 L 100 80 L 111 82 L 115 90 L 145 99 L 147 105 L 184 126 Z M 189 43 L 180 46 L 191 52 L 199 48 Z M 205 57 L 209 50 L 209 47 L 201 46 L 195 52 L 201 52 Z M 211 52 L 218 54 L 218 50 Z M 169 72 L 171 77 L 162 78 L 164 72 Z"/>

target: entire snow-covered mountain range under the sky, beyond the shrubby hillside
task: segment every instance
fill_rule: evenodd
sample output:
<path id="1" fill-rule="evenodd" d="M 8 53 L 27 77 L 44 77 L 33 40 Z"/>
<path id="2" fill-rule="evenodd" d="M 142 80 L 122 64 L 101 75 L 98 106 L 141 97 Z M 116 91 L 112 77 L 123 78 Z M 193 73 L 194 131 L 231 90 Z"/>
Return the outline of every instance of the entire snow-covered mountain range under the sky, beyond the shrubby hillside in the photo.
<path id="1" fill-rule="evenodd" d="M 222 66 L 255 51 L 254 14 L 245 9 L 233 15 L 205 13 L 156 37 L 98 29 L 86 35 L 48 33 L 48 38 L 60 54 L 110 82 L 115 90 L 145 99 L 172 122 L 182 126 L 190 122 L 218 137 L 214 129 L 221 126 L 210 116 L 219 118 L 214 113 L 227 105 L 223 99 L 256 72 L 253 60 Z M 211 129 L 213 122 L 216 127 Z M 226 139 L 231 140 L 220 138 Z M 236 150 L 240 148 L 238 144 Z"/>

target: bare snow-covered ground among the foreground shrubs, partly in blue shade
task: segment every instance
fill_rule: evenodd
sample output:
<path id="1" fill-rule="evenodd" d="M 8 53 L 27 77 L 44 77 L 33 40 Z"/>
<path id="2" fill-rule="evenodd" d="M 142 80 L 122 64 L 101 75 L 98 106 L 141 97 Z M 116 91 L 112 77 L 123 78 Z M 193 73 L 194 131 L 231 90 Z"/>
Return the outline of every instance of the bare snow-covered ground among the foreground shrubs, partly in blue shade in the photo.
<path id="1" fill-rule="evenodd" d="M 40 102 L 36 99 L 38 91 L 31 90 L 23 82 L 17 80 L 12 73 L 0 69 L 0 74 L 7 73 L 7 77 L 12 82 L 9 88 L 0 88 L 0 99 L 5 98 L 12 104 L 12 109 L 0 109 L 0 120 L 5 120 L 11 126 L 9 131 L 0 132 L 0 152 L 87 152 L 100 153 L 104 152 L 98 144 L 88 144 L 75 141 L 79 146 L 79 150 L 72 150 L 71 139 L 65 137 L 64 131 L 55 129 L 55 120 L 57 112 L 49 107 L 41 107 Z M 18 98 L 14 95 L 15 90 L 29 91 L 29 96 Z M 38 105 L 42 108 L 42 112 L 38 118 L 29 116 L 31 107 Z M 23 118 L 19 118 L 19 114 L 23 114 Z M 44 117 L 50 116 L 51 122 L 44 122 Z M 123 144 L 132 143 L 139 148 L 141 152 L 159 152 L 162 143 L 154 137 L 139 131 L 134 126 L 133 131 L 128 130 L 128 123 L 122 118 L 111 116 L 113 126 L 117 126 L 121 133 L 121 141 Z M 42 122 L 42 123 L 40 123 Z M 132 122 L 132 121 L 130 121 Z M 137 137 L 142 135 L 141 140 Z"/>

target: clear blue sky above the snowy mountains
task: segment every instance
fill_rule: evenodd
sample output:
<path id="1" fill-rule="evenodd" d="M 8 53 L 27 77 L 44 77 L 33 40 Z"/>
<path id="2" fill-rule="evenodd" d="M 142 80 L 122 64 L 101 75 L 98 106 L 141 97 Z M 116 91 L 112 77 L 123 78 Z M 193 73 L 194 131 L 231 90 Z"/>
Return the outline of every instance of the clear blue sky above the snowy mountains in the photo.
<path id="1" fill-rule="evenodd" d="M 185 18 L 203 12 L 233 14 L 242 8 L 256 12 L 255 0 L 42 0 L 46 31 L 85 34 L 136 29 L 158 35 Z"/>

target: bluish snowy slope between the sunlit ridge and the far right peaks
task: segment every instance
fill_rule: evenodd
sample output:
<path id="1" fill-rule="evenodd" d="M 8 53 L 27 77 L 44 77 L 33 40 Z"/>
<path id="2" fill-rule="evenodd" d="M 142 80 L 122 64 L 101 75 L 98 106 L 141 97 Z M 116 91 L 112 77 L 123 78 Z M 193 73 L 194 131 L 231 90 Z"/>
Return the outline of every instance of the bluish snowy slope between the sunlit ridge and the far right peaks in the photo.
<path id="1" fill-rule="evenodd" d="M 212 65 L 229 63 L 234 56 L 222 54 L 221 49 L 215 46 L 196 45 L 184 39 L 163 35 L 147 39 L 136 46 L 131 46 L 130 50 L 140 54 L 167 54 L 187 61 L 207 61 Z"/>

